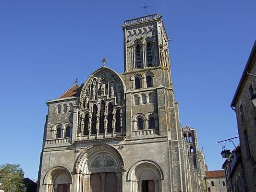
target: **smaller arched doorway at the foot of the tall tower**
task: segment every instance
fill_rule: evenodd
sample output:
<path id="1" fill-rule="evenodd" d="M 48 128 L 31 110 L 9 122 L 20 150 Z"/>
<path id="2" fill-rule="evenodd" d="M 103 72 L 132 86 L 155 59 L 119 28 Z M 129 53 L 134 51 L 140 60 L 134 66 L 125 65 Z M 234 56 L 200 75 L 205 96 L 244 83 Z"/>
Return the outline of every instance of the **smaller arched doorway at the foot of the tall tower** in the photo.
<path id="1" fill-rule="evenodd" d="M 161 192 L 163 179 L 160 166 L 153 161 L 144 160 L 129 169 L 126 181 L 130 181 L 132 192 Z"/>

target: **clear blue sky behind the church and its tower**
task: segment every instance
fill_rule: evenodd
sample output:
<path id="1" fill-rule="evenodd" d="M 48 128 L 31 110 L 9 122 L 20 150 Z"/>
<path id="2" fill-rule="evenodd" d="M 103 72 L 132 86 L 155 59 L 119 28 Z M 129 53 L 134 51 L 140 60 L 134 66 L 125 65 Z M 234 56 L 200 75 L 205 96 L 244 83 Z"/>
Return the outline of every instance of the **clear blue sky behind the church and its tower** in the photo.
<path id="1" fill-rule="evenodd" d="M 197 129 L 208 168 L 221 168 L 218 140 L 238 135 L 230 103 L 256 40 L 255 0 L 1 0 L 0 164 L 21 164 L 37 179 L 45 102 L 76 77 L 85 82 L 102 57 L 122 72 L 119 24 L 143 16 L 144 3 L 171 38 L 181 123 Z"/>

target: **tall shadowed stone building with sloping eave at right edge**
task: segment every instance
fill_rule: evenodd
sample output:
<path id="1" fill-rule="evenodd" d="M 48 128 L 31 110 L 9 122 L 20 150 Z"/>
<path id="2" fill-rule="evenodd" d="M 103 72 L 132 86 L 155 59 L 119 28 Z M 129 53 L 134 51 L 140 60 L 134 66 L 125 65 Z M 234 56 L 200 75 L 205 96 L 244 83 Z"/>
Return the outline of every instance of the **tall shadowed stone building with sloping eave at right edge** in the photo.
<path id="1" fill-rule="evenodd" d="M 244 169 L 244 191 L 256 192 L 256 42 L 233 97 Z"/>

